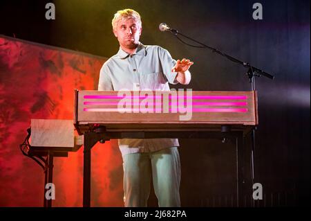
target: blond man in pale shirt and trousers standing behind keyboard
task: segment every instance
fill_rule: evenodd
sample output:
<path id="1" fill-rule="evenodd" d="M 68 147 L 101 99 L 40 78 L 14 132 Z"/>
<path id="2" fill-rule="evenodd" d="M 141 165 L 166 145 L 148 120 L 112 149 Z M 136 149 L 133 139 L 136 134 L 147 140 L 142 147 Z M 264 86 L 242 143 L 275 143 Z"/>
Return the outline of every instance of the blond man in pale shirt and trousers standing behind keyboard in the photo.
<path id="1" fill-rule="evenodd" d="M 191 80 L 185 58 L 173 60 L 160 46 L 139 42 L 138 12 L 119 10 L 112 20 L 120 50 L 100 70 L 98 90 L 148 89 L 169 91 L 169 83 Z M 147 206 L 151 177 L 159 206 L 180 206 L 180 158 L 177 139 L 120 139 L 124 168 L 124 205 Z"/>

